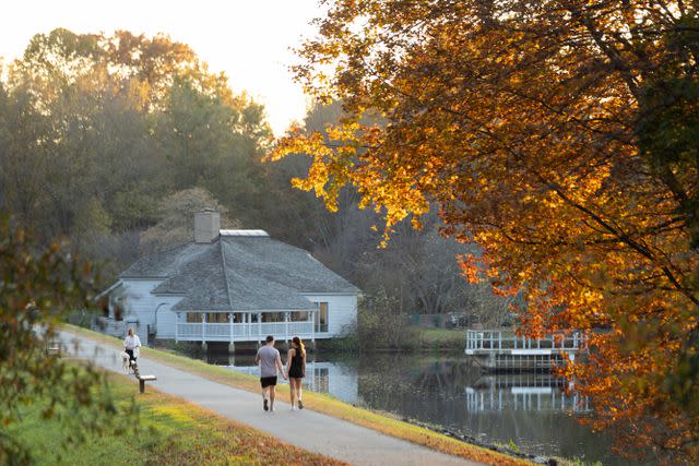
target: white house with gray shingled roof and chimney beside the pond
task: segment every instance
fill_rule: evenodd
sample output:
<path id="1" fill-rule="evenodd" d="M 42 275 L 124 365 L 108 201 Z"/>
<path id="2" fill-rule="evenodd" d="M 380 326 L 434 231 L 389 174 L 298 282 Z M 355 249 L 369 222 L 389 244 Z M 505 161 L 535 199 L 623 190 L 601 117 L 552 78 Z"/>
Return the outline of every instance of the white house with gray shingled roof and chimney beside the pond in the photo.
<path id="1" fill-rule="evenodd" d="M 356 320 L 360 291 L 263 230 L 221 230 L 206 210 L 193 241 L 141 258 L 105 294 L 112 323 L 135 326 L 143 342 L 234 344 L 332 338 Z"/>

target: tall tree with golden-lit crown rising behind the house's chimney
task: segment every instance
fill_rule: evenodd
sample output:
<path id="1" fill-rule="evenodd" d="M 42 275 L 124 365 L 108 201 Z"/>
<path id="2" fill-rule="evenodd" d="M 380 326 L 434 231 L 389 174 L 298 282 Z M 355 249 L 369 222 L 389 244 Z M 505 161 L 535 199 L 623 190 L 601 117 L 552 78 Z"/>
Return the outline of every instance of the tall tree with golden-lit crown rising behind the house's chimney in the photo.
<path id="1" fill-rule="evenodd" d="M 178 77 L 157 118 L 174 184 L 205 188 L 252 223 L 251 207 L 264 195 L 260 159 L 271 136 L 262 107 L 245 94 L 234 96 L 225 82 L 202 89 Z"/>

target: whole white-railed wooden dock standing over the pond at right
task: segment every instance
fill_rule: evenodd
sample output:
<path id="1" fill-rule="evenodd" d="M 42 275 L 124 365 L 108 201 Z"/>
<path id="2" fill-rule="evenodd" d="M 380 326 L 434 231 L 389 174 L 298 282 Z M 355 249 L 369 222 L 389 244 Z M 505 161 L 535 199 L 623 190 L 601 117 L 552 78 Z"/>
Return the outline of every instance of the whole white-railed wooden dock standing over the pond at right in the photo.
<path id="1" fill-rule="evenodd" d="M 511 331 L 467 330 L 465 354 L 486 372 L 548 372 L 577 355 L 587 354 L 588 339 L 582 332 L 544 338 L 517 336 Z"/>

